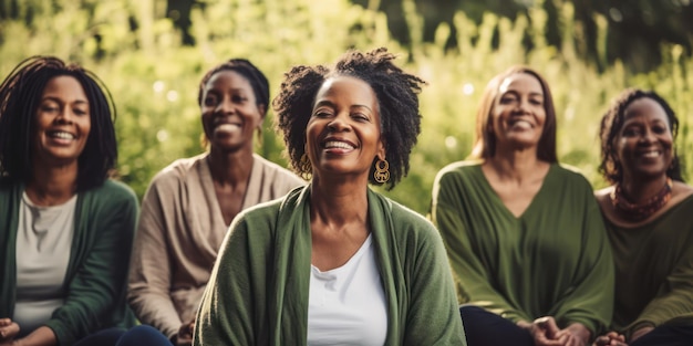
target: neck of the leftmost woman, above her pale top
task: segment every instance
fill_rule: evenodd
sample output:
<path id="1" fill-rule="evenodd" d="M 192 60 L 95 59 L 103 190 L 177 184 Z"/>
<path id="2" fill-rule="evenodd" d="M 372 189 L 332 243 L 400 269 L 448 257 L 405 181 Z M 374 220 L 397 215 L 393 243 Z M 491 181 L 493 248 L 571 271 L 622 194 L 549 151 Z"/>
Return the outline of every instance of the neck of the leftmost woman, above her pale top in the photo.
<path id="1" fill-rule="evenodd" d="M 56 206 L 76 193 L 77 162 L 44 167 L 35 165 L 31 180 L 27 182 L 27 196 L 37 206 Z"/>

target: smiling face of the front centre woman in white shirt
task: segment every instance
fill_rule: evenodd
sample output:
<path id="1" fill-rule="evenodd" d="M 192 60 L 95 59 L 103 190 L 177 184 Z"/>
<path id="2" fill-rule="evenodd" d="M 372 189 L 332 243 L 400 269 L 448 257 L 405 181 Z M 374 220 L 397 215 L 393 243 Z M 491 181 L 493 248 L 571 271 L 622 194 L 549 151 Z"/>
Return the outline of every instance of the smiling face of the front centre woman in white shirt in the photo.
<path id="1" fill-rule="evenodd" d="M 380 132 L 377 98 L 368 83 L 351 76 L 327 80 L 306 130 L 313 175 L 362 175 L 368 180 L 373 159 L 385 158 Z"/>

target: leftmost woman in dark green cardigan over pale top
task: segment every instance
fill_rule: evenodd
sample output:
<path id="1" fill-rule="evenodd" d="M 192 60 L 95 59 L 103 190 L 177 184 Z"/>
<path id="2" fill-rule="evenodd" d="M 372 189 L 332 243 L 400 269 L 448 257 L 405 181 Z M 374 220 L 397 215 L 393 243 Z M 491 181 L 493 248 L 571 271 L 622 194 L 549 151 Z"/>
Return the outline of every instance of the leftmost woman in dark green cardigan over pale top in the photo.
<path id="1" fill-rule="evenodd" d="M 31 57 L 0 85 L 0 345 L 113 345 L 137 199 L 108 177 L 115 109 L 92 73 Z"/>

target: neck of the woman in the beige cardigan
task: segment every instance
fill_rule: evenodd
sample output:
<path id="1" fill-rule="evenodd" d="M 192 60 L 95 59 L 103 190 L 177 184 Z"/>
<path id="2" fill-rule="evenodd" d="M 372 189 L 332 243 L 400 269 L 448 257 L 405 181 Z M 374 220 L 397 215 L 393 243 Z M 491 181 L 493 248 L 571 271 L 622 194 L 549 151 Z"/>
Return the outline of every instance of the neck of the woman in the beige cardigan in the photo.
<path id="1" fill-rule="evenodd" d="M 234 186 L 248 180 L 252 171 L 254 157 L 252 151 L 248 150 L 224 153 L 213 148 L 207 156 L 207 161 L 215 182 Z M 251 164 L 248 165 L 248 162 Z"/>

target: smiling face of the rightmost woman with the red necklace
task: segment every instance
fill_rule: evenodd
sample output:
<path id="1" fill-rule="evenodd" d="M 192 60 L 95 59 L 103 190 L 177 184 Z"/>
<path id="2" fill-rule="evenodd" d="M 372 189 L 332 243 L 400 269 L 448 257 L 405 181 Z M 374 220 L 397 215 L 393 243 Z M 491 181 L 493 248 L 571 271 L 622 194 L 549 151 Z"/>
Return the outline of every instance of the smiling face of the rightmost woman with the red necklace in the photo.
<path id="1" fill-rule="evenodd" d="M 633 101 L 623 116 L 613 147 L 624 180 L 666 175 L 673 159 L 673 136 L 664 108 L 642 97 Z"/>

